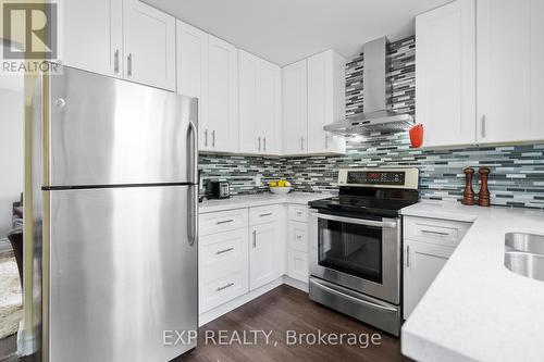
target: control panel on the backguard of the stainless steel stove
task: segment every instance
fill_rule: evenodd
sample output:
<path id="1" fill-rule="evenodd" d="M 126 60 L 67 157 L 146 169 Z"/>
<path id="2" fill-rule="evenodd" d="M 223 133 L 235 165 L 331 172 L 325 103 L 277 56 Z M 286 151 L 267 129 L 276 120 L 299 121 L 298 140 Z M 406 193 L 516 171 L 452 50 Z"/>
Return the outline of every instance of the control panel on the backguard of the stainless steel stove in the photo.
<path id="1" fill-rule="evenodd" d="M 418 188 L 418 168 L 348 168 L 339 170 L 339 186 Z"/>

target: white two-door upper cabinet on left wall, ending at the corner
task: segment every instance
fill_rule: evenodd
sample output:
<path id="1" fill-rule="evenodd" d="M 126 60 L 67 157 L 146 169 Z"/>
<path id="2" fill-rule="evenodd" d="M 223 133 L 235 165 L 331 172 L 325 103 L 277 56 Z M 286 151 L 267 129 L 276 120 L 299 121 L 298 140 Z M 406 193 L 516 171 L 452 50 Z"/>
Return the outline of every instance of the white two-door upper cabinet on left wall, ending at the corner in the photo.
<path id="1" fill-rule="evenodd" d="M 239 152 L 280 154 L 281 70 L 238 50 Z"/>

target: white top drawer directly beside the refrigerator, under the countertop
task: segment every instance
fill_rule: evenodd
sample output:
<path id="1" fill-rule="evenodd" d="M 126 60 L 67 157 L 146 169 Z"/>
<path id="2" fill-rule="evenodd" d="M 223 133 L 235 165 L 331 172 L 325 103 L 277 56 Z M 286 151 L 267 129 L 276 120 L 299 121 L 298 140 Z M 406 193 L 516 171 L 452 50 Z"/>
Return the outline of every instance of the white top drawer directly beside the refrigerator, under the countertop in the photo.
<path id="1" fill-rule="evenodd" d="M 234 230 L 248 226 L 247 209 L 210 212 L 198 215 L 200 236 Z"/>

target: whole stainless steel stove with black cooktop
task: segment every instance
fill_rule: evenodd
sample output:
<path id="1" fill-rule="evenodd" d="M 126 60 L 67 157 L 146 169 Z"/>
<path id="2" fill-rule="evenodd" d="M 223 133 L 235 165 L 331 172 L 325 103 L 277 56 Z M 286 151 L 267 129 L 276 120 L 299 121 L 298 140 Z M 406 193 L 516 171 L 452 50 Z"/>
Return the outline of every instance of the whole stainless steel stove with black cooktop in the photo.
<path id="1" fill-rule="evenodd" d="M 417 170 L 341 170 L 338 184 L 310 202 L 310 299 L 398 336 L 399 210 L 418 201 Z"/>

